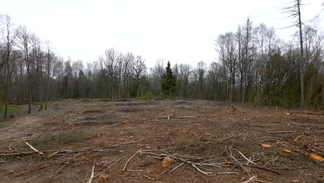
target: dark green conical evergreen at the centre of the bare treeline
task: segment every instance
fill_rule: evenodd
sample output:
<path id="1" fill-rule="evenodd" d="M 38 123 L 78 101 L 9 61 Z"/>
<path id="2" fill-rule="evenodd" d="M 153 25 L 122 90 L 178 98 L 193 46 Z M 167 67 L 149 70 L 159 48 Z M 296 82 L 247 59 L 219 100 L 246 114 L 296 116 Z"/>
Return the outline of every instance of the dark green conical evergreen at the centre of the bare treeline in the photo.
<path id="1" fill-rule="evenodd" d="M 177 77 L 173 75 L 172 69 L 170 67 L 170 62 L 168 62 L 168 65 L 166 67 L 166 71 L 161 77 L 162 83 L 162 91 L 164 96 L 169 96 L 171 98 L 171 95 L 177 91 Z"/>

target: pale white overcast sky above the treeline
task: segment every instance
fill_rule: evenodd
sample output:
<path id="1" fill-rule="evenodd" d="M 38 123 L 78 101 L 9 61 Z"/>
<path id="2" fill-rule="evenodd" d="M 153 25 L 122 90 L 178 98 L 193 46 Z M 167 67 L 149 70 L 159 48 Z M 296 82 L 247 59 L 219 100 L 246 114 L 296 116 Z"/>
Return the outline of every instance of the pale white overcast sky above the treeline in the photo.
<path id="1" fill-rule="evenodd" d="M 67 59 L 93 62 L 106 49 L 172 64 L 217 60 L 214 41 L 251 17 L 274 28 L 289 26 L 280 8 L 292 0 L 0 0 L 0 13 L 26 26 Z M 323 0 L 304 0 L 303 19 L 321 11 Z M 324 14 L 324 13 L 323 13 Z M 323 14 L 321 15 L 323 19 Z M 321 22 L 323 24 L 323 21 Z M 276 30 L 283 40 L 296 28 Z"/>

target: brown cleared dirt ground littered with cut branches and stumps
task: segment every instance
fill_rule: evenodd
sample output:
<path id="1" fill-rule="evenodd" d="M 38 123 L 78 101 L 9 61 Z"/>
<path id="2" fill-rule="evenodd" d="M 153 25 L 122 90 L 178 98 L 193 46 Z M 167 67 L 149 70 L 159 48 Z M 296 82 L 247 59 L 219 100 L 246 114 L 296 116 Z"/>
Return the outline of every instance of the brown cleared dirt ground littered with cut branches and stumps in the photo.
<path id="1" fill-rule="evenodd" d="M 19 105 L 0 122 L 0 182 L 91 182 L 92 170 L 92 182 L 324 182 L 323 114 L 219 101 L 49 106 Z"/>

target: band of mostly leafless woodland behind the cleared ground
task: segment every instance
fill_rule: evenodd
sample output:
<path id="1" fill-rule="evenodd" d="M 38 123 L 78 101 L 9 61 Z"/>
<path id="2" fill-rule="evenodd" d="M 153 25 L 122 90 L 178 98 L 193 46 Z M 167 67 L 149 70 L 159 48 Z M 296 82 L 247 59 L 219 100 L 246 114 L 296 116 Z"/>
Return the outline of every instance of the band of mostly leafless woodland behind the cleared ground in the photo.
<path id="1" fill-rule="evenodd" d="M 50 41 L 1 15 L 1 106 L 28 102 L 46 110 L 48 101 L 62 98 L 199 98 L 323 110 L 324 35 L 316 24 L 301 23 L 296 5 L 287 8 L 296 20 L 289 42 L 248 17 L 235 32 L 215 37 L 215 62 L 196 67 L 161 59 L 147 68 L 152 60 L 114 48 L 95 62 L 64 60 Z"/>

